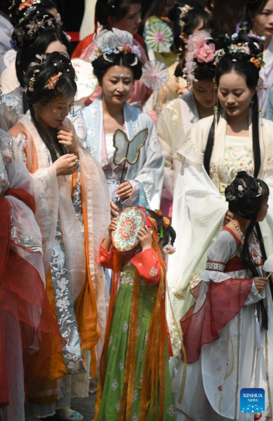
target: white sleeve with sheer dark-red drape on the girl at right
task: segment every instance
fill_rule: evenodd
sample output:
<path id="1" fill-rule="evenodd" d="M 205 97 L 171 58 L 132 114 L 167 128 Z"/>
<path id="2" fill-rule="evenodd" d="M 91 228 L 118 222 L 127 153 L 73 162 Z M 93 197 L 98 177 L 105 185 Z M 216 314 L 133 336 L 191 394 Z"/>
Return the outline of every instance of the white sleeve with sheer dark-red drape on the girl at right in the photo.
<path id="1" fill-rule="evenodd" d="M 207 269 L 201 276 L 204 282 L 194 288 L 197 302 L 180 321 L 187 363 L 199 359 L 204 344 L 218 340 L 219 331 L 241 311 L 251 292 L 252 278 L 234 278 L 225 273 L 234 252 L 236 242 L 224 231 L 208 250 Z"/>

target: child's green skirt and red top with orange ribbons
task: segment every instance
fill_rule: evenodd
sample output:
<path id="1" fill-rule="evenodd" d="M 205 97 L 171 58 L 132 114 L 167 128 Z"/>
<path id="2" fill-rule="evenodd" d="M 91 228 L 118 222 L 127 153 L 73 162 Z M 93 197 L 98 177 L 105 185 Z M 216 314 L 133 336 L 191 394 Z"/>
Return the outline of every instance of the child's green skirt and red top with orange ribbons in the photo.
<path id="1" fill-rule="evenodd" d="M 161 386 L 161 389 L 159 388 L 157 391 L 159 398 L 164 401 L 164 414 L 161 415 L 160 420 L 174 420 L 171 377 L 168 371 L 168 342 L 166 340 L 164 309 L 165 293 L 161 264 L 157 253 L 152 248 L 148 248 L 138 254 L 135 254 L 135 252 L 125 254 L 123 259 L 124 267 L 119 281 L 119 292 L 114 302 L 109 341 L 104 349 L 106 366 L 103 365 L 104 357 L 102 356 L 100 372 L 102 389 L 98 388 L 97 407 L 99 412 L 95 420 L 124 420 L 128 402 L 131 403 L 128 419 L 131 421 L 146 420 L 147 413 L 147 420 L 149 419 L 150 401 L 144 401 L 144 413 L 141 413 L 140 407 L 142 390 L 145 389 L 145 385 L 148 383 L 147 373 L 145 373 L 145 358 L 149 347 L 149 335 L 151 335 L 150 326 L 152 325 L 153 316 L 156 314 L 155 307 L 159 308 L 160 306 L 159 314 L 161 316 L 159 316 L 158 320 L 157 316 L 154 316 L 154 326 L 157 329 L 161 329 L 161 335 L 159 335 L 161 339 L 156 344 L 158 349 L 162 345 L 161 340 L 163 340 L 163 347 L 161 348 L 163 358 L 162 354 L 159 358 L 164 367 L 159 364 L 160 368 L 156 373 L 157 377 L 159 377 L 159 382 L 161 385 L 164 385 L 164 389 Z M 113 246 L 109 252 L 103 247 L 100 248 L 100 261 L 102 266 L 114 269 Z M 134 324 L 135 332 L 133 330 Z M 128 363 L 131 361 L 133 349 L 135 349 L 135 359 L 129 368 Z M 152 349 L 150 354 L 154 354 L 151 358 L 154 358 L 154 366 L 157 367 L 158 361 L 155 361 L 158 357 L 157 352 Z M 133 377 L 131 387 L 128 375 Z M 102 377 L 104 377 L 103 381 Z M 154 420 L 156 418 L 153 415 L 151 419 Z"/>

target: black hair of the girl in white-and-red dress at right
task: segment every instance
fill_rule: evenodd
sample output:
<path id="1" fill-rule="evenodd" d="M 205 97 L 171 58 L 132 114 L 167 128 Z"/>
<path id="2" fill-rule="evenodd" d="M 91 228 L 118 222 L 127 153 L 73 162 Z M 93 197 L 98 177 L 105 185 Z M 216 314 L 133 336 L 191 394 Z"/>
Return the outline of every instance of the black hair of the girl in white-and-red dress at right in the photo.
<path id="1" fill-rule="evenodd" d="M 261 192 L 260 189 L 262 189 Z M 265 252 L 265 244 L 262 239 L 260 225 L 257 222 L 257 217 L 262 207 L 262 203 L 267 201 L 268 196 L 269 187 L 267 184 L 263 180 L 259 180 L 258 178 L 248 175 L 246 171 L 240 171 L 232 183 L 225 188 L 225 197 L 229 203 L 229 210 L 232 213 L 239 214 L 241 218 L 251 221 L 246 229 L 244 246 L 241 250 L 240 258 L 254 277 L 260 277 L 260 272 L 258 271 L 253 258 L 251 258 L 249 244 L 251 242 L 253 232 L 255 231 L 255 234 L 258 236 L 262 260 L 265 262 L 265 260 L 267 260 L 267 255 Z M 269 286 L 273 297 L 273 283 L 271 277 L 269 280 Z M 265 300 L 260 300 L 257 303 L 257 309 L 260 327 L 267 330 L 268 315 L 265 309 Z"/>

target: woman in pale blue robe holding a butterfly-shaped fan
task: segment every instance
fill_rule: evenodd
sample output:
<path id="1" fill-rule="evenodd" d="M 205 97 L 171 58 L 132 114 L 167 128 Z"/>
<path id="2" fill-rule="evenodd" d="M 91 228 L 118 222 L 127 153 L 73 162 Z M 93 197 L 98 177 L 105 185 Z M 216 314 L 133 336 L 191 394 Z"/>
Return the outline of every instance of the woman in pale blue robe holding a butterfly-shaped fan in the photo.
<path id="1" fill-rule="evenodd" d="M 152 119 L 126 102 L 134 81 L 142 75 L 140 51 L 131 34 L 114 28 L 113 32 L 102 31 L 95 44 L 92 65 L 102 96 L 84 108 L 84 121 L 81 117 L 75 121 L 76 131 L 105 172 L 112 216 L 119 213 L 115 201 L 122 207 L 159 208 L 164 154 Z M 118 137 L 114 135 L 116 129 Z M 119 162 L 126 155 L 131 159 L 118 165 L 115 155 L 119 155 Z"/>

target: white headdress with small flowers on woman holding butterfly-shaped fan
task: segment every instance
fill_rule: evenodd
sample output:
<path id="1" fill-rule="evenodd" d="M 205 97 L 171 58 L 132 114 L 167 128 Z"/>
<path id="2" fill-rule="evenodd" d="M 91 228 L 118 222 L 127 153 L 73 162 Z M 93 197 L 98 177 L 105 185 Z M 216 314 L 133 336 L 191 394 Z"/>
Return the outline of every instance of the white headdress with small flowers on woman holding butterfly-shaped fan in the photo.
<path id="1" fill-rule="evenodd" d="M 135 61 L 131 66 L 137 65 L 138 60 L 141 59 L 140 47 L 133 45 L 133 35 L 129 34 L 129 32 L 121 31 L 116 28 L 113 28 L 112 31 L 107 31 L 107 29 L 105 29 L 100 32 L 98 36 L 94 37 L 93 41 L 97 48 L 91 56 L 91 62 L 100 55 L 103 55 L 103 58 L 106 61 L 112 62 L 109 55 L 119 53 L 135 54 Z"/>

